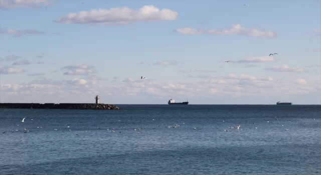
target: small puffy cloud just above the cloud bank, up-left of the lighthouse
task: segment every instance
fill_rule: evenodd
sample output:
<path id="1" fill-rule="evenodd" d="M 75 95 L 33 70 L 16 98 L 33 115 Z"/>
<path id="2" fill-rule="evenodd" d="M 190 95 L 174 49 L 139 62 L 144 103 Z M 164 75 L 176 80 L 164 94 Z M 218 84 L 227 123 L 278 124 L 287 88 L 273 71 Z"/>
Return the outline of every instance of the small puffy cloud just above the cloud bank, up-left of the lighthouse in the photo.
<path id="1" fill-rule="evenodd" d="M 62 67 L 62 69 L 67 69 L 67 72 L 64 72 L 65 75 L 81 75 L 81 74 L 91 74 L 96 73 L 94 66 L 87 64 L 72 64 Z"/>

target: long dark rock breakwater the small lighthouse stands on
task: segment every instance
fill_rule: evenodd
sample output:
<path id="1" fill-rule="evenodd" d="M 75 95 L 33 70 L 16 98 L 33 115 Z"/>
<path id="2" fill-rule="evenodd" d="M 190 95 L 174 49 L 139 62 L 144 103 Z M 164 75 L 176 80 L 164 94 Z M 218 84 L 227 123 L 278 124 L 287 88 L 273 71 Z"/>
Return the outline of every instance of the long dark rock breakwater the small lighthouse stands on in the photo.
<path id="1" fill-rule="evenodd" d="M 104 103 L 0 103 L 0 108 L 35 109 L 121 109 L 113 104 Z"/>

